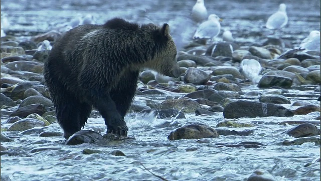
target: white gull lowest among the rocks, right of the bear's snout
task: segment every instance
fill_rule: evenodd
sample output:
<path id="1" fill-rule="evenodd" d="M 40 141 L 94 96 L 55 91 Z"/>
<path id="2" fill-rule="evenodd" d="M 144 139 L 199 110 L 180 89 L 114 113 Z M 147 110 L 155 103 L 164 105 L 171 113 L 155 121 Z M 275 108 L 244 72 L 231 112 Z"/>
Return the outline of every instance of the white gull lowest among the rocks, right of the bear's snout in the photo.
<path id="1" fill-rule="evenodd" d="M 259 73 L 261 70 L 261 64 L 254 59 L 244 59 L 240 64 L 240 72 L 254 84 L 260 81 Z"/>

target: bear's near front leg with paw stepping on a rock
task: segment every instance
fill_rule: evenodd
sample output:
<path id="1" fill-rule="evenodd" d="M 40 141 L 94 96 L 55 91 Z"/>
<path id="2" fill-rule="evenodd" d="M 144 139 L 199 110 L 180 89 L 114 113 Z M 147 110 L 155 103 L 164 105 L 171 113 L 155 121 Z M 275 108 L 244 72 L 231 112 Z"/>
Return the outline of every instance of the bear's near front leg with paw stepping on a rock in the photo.
<path id="1" fill-rule="evenodd" d="M 94 106 L 105 119 L 107 133 L 113 133 L 119 136 L 127 136 L 127 125 L 124 118 L 118 113 L 115 103 L 110 95 L 104 95 L 102 98 L 95 100 Z"/>

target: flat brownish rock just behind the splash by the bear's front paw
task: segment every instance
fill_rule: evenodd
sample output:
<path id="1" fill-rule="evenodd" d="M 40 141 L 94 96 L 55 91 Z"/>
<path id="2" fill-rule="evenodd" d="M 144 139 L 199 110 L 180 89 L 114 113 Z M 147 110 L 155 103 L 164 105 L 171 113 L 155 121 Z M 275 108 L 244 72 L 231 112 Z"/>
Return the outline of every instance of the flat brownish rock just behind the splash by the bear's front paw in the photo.
<path id="1" fill-rule="evenodd" d="M 188 99 L 168 99 L 162 102 L 162 109 L 177 109 L 181 110 L 184 113 L 195 113 L 198 108 L 201 108 L 201 105 L 193 100 Z"/>

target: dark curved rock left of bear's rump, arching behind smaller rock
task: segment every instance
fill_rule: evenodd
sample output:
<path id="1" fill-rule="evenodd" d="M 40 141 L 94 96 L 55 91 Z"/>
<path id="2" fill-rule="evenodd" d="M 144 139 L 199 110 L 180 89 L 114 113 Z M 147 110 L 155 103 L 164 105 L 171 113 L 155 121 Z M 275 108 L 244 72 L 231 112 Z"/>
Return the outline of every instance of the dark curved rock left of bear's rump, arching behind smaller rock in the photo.
<path id="1" fill-rule="evenodd" d="M 25 91 L 28 89 L 28 88 L 34 88 L 36 89 L 39 93 L 44 93 L 45 90 L 46 90 L 46 86 L 39 83 L 39 82 L 34 82 L 34 81 L 28 81 L 28 82 L 24 82 L 24 83 L 21 83 L 19 85 L 17 85 L 12 93 L 11 93 L 11 99 L 13 99 L 14 101 L 17 101 L 17 100 L 23 100 L 24 99 L 24 94 L 25 94 Z"/>

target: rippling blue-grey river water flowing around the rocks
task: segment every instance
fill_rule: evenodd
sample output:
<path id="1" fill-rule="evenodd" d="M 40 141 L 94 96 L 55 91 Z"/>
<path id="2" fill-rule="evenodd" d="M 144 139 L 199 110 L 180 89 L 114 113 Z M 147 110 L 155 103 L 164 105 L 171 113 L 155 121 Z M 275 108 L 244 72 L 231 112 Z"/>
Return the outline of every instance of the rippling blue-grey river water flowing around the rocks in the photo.
<path id="1" fill-rule="evenodd" d="M 263 28 L 268 16 L 278 9 L 280 3 L 287 6 L 288 25 L 277 32 L 291 47 L 296 47 L 311 30 L 320 28 L 320 2 L 305 1 L 206 1 L 208 12 L 223 18 L 222 27 L 229 28 L 237 41 L 260 43 L 272 32 Z M 169 23 L 171 34 L 178 49 L 191 39 L 196 26 L 189 20 L 195 1 L 1 1 L 2 13 L 8 14 L 12 24 L 10 35 L 28 38 L 50 30 L 53 24 L 70 21 L 78 13 L 92 14 L 97 23 L 104 23 L 112 17 L 122 17 L 139 23 Z M 218 40 L 220 36 L 218 37 Z M 319 92 L 316 85 L 302 85 L 289 89 L 288 97 L 293 103 L 304 100 L 314 105 Z M 242 87 L 243 92 L 264 91 L 255 86 Z M 294 96 L 293 96 L 294 95 Z M 147 99 L 137 96 L 137 100 Z M 154 97 L 161 101 L 162 97 Z M 257 101 L 258 97 L 242 97 Z M 297 107 L 282 105 L 292 110 Z M 249 136 L 220 136 L 204 142 L 196 140 L 167 139 L 175 126 L 159 128 L 166 121 L 202 122 L 215 127 L 223 120 L 223 114 L 198 117 L 187 114 L 186 119 L 155 119 L 152 115 L 128 115 L 126 122 L 129 135 L 136 140 L 111 142 L 107 145 L 82 144 L 70 146 L 61 144 L 61 137 L 38 137 L 6 132 L 15 139 L 4 145 L 16 150 L 19 156 L 1 156 L 1 174 L 12 180 L 159 180 L 153 173 L 169 180 L 246 180 L 257 168 L 268 170 L 277 180 L 319 180 L 320 163 L 304 167 L 307 162 L 320 155 L 320 146 L 314 143 L 282 146 L 283 140 L 293 138 L 282 134 L 294 126 L 277 125 L 281 121 L 309 120 L 308 115 L 295 115 L 286 118 L 241 118 L 242 122 L 257 123 L 254 134 Z M 2 120 L 4 121 L 4 120 Z M 174 124 L 174 125 L 177 125 Z M 318 125 L 319 126 L 319 125 Z M 105 131 L 101 118 L 90 118 L 85 129 Z M 233 128 L 244 130 L 244 128 Z M 60 130 L 57 123 L 48 130 Z M 264 148 L 216 148 L 217 143 L 238 143 L 258 141 Z M 38 147 L 51 149 L 31 153 Z M 85 148 L 98 149 L 101 153 L 85 155 Z M 109 151 L 121 150 L 126 156 L 114 156 Z"/>

